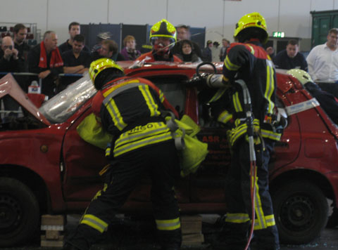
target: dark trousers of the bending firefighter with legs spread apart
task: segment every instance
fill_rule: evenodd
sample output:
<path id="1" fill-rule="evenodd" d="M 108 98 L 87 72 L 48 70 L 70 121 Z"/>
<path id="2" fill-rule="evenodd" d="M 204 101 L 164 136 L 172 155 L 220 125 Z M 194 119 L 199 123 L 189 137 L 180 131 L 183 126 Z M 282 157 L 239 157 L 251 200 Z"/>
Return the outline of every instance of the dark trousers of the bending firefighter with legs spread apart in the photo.
<path id="1" fill-rule="evenodd" d="M 114 221 L 118 209 L 144 176 L 151 178 L 151 202 L 163 249 L 180 249 L 182 235 L 174 183 L 180 162 L 173 140 L 149 145 L 116 157 L 105 173 L 105 185 L 87 207 L 76 232 L 65 240 L 87 250 Z"/>

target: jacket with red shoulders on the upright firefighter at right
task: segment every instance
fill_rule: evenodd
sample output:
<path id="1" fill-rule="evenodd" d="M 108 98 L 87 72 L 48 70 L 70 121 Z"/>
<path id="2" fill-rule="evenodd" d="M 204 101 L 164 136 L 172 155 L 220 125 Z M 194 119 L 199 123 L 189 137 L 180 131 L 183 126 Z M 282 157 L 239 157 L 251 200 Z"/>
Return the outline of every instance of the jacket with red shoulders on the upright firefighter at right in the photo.
<path id="1" fill-rule="evenodd" d="M 244 85 L 238 84 L 242 79 Z M 234 128 L 229 132 L 230 145 L 246 135 L 246 111 L 252 110 L 253 130 L 263 138 L 280 140 L 281 133 L 275 129 L 276 112 L 276 77 L 273 62 L 262 46 L 256 41 L 247 44 L 234 43 L 228 48 L 223 66 L 223 81 L 232 87 L 220 88 L 209 102 L 223 102 L 216 117 L 227 123 L 234 121 Z M 251 107 L 245 104 L 244 87 L 249 90 Z M 223 99 L 223 100 L 222 100 Z M 224 110 L 224 107 L 226 110 Z"/>

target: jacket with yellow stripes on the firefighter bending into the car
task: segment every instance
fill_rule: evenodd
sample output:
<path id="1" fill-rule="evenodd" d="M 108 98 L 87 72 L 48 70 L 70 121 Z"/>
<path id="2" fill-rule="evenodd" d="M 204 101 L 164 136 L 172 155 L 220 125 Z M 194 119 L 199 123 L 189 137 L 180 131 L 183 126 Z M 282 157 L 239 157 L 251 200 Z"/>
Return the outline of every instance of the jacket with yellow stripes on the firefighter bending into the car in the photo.
<path id="1" fill-rule="evenodd" d="M 161 114 L 177 112 L 146 79 L 122 77 L 108 82 L 93 98 L 92 110 L 113 135 L 114 157 L 173 139 Z"/>

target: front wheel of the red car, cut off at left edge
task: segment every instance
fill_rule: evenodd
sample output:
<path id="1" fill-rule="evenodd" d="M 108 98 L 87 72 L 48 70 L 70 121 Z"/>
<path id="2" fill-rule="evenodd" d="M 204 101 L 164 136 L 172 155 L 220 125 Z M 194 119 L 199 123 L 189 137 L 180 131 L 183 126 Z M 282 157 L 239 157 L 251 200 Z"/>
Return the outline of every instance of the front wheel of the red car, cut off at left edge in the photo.
<path id="1" fill-rule="evenodd" d="M 39 226 L 39 204 L 27 185 L 0 178 L 0 247 L 31 239 Z"/>

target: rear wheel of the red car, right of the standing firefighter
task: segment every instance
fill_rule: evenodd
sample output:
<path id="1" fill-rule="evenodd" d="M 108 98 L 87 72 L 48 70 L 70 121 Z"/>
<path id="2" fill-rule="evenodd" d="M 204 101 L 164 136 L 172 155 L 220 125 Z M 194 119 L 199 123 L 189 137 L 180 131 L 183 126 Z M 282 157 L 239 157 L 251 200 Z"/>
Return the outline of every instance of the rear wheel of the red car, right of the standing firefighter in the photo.
<path id="1" fill-rule="evenodd" d="M 325 228 L 327 199 L 316 185 L 308 181 L 285 183 L 272 197 L 281 243 L 306 244 Z"/>

